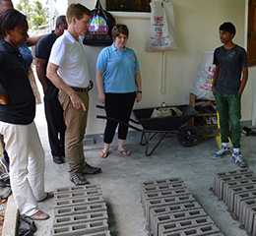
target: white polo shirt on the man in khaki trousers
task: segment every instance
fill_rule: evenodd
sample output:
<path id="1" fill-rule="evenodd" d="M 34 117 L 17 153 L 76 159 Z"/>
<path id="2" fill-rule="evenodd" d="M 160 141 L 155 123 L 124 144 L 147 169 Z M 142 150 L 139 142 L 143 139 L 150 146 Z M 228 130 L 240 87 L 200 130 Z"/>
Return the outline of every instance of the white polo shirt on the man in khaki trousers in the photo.
<path id="1" fill-rule="evenodd" d="M 59 66 L 57 73 L 69 87 L 87 88 L 90 82 L 88 60 L 81 39 L 77 41 L 65 30 L 51 48 L 49 62 Z"/>

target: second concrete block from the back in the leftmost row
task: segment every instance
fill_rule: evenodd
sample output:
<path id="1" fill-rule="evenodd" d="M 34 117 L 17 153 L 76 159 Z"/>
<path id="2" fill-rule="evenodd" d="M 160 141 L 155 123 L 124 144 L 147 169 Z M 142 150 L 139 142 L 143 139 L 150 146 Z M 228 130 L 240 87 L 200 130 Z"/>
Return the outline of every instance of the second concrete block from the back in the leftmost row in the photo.
<path id="1" fill-rule="evenodd" d="M 75 199 L 75 198 L 88 198 L 91 196 L 102 196 L 102 191 L 100 189 L 95 190 L 83 190 L 83 191 L 74 191 L 74 192 L 67 192 L 62 194 L 55 194 L 54 200 L 67 200 L 67 199 Z"/>

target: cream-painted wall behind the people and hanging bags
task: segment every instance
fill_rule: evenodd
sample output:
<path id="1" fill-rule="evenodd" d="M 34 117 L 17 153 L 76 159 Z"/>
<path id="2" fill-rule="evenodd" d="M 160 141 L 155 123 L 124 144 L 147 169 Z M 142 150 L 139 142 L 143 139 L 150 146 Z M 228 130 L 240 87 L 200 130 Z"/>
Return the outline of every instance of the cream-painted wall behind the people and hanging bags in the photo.
<path id="1" fill-rule="evenodd" d="M 68 1 L 69 3 L 76 1 Z M 96 1 L 81 0 L 90 9 Z M 166 52 L 165 93 L 161 93 L 162 54 L 147 52 L 150 36 L 150 19 L 115 17 L 117 23 L 130 29 L 127 46 L 135 50 L 140 64 L 143 81 L 143 99 L 136 108 L 159 106 L 161 101 L 168 105 L 188 104 L 188 94 L 193 87 L 193 78 L 204 57 L 205 50 L 211 51 L 222 45 L 219 27 L 232 22 L 237 34 L 234 42 L 244 46 L 245 0 L 172 0 L 175 14 L 175 34 L 179 51 Z M 101 0 L 104 7 L 104 2 Z M 114 14 L 114 13 L 113 13 Z M 150 15 L 150 14 L 149 14 Z M 88 47 L 91 77 L 96 81 L 96 57 L 100 47 Z M 251 120 L 254 70 L 242 97 L 242 120 Z M 97 89 L 90 93 L 91 107 L 87 134 L 103 133 L 103 120 L 97 120 Z"/>

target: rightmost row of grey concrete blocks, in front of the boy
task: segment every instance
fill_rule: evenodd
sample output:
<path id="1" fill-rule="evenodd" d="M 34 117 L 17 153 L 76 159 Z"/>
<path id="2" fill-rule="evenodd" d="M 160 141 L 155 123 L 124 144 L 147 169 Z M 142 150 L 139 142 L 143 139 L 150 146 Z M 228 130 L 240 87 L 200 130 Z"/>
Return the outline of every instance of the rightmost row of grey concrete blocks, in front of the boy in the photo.
<path id="1" fill-rule="evenodd" d="M 214 191 L 245 229 L 256 236 L 256 175 L 248 169 L 215 174 Z"/>

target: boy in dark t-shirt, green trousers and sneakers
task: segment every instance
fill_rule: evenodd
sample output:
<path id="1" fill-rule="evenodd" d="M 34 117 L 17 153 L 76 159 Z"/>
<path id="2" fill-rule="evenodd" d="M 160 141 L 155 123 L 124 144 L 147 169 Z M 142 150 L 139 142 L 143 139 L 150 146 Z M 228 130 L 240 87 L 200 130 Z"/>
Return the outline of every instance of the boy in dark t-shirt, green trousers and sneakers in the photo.
<path id="1" fill-rule="evenodd" d="M 233 146 L 231 161 L 239 167 L 245 167 L 240 151 L 240 119 L 241 95 L 248 79 L 248 63 L 246 51 L 232 42 L 234 34 L 234 26 L 231 23 L 224 23 L 220 27 L 220 38 L 224 45 L 218 47 L 214 53 L 216 73 L 213 91 L 219 112 L 223 146 L 212 155 L 212 158 L 219 159 L 230 154 L 228 148 L 228 122 L 230 122 Z"/>

